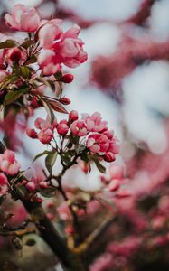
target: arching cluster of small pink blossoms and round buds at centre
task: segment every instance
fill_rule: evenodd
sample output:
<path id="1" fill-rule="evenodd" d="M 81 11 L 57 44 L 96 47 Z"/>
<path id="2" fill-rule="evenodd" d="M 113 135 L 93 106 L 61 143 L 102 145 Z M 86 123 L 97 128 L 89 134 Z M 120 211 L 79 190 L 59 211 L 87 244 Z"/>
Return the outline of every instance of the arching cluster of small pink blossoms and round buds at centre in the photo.
<path id="1" fill-rule="evenodd" d="M 59 135 L 72 135 L 83 138 L 85 136 L 85 145 L 90 154 L 97 154 L 107 162 L 115 160 L 115 155 L 119 152 L 117 138 L 112 130 L 108 130 L 107 122 L 102 121 L 98 112 L 91 116 L 83 114 L 79 118 L 78 112 L 70 111 L 68 120 L 63 119 L 57 123 L 56 119 L 51 125 L 48 119 L 43 120 L 38 117 L 34 123 L 39 133 L 34 129 L 27 129 L 27 135 L 32 138 L 38 138 L 43 144 L 49 144 L 53 138 L 53 130 L 57 129 Z"/>

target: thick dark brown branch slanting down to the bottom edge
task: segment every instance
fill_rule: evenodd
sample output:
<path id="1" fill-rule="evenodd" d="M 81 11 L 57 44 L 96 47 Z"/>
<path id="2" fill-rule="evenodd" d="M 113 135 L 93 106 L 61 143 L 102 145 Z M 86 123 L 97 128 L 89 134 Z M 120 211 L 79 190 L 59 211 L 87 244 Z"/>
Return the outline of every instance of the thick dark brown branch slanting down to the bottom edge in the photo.
<path id="1" fill-rule="evenodd" d="M 0 142 L 0 153 L 4 153 L 5 145 Z M 81 258 L 77 257 L 69 248 L 63 238 L 61 238 L 59 232 L 53 226 L 52 222 L 47 218 L 44 210 L 42 209 L 41 203 L 32 202 L 23 198 L 23 195 L 19 192 L 18 198 L 23 202 L 25 210 L 29 213 L 33 223 L 36 225 L 37 229 L 43 240 L 52 248 L 54 254 L 58 257 L 63 266 L 64 270 L 87 270 L 83 265 Z"/>

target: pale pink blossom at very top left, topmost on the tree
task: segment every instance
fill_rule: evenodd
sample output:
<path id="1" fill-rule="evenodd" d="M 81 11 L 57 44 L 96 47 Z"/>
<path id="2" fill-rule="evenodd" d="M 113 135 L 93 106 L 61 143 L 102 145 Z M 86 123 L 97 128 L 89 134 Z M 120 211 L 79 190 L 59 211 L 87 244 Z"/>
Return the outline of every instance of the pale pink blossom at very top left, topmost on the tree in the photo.
<path id="1" fill-rule="evenodd" d="M 40 16 L 35 8 L 17 4 L 12 14 L 5 14 L 5 21 L 14 30 L 35 32 L 39 28 Z"/>

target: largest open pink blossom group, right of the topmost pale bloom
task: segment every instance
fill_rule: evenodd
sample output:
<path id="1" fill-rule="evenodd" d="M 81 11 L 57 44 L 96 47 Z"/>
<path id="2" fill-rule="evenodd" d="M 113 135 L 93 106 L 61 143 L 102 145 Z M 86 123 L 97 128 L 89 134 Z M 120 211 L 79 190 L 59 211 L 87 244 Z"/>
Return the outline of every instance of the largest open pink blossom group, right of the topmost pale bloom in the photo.
<path id="1" fill-rule="evenodd" d="M 61 20 L 58 19 L 42 25 L 39 39 L 43 50 L 38 56 L 38 62 L 43 74 L 52 75 L 61 70 L 61 63 L 76 68 L 87 61 L 87 53 L 83 51 L 84 42 L 78 38 L 79 33 L 78 25 L 73 25 L 63 33 Z"/>

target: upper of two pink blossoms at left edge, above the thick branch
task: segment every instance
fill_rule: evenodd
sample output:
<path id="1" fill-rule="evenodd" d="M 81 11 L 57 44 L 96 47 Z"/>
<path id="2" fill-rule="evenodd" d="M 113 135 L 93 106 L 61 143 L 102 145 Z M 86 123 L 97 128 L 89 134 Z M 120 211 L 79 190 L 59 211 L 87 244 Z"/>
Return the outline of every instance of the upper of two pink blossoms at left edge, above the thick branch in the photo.
<path id="1" fill-rule="evenodd" d="M 0 170 L 9 175 L 15 175 L 19 172 L 20 164 L 15 160 L 14 152 L 5 150 L 0 154 Z"/>

